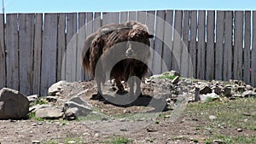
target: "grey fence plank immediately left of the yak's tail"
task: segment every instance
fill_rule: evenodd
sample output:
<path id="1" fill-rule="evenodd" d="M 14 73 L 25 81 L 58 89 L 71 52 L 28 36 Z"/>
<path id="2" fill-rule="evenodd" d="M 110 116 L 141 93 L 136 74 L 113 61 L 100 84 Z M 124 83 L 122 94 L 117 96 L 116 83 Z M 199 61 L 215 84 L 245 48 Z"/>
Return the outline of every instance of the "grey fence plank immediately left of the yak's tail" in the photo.
<path id="1" fill-rule="evenodd" d="M 77 74 L 76 74 L 76 81 L 80 81 L 84 79 L 84 70 L 82 68 L 82 49 L 84 46 L 84 39 L 85 39 L 85 13 L 79 13 L 79 32 L 78 32 L 78 50 L 77 50 Z"/>

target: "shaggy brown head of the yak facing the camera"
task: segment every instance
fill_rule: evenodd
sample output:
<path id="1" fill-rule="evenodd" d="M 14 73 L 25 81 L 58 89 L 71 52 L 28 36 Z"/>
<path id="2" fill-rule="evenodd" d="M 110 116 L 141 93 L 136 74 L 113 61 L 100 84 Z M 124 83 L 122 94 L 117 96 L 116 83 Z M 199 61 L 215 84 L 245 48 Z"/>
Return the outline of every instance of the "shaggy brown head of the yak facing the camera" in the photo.
<path id="1" fill-rule="evenodd" d="M 147 31 L 142 29 L 132 29 L 128 33 L 127 50 L 125 52 L 128 58 L 148 58 L 150 55 L 150 42 L 149 38 L 153 38 Z"/>

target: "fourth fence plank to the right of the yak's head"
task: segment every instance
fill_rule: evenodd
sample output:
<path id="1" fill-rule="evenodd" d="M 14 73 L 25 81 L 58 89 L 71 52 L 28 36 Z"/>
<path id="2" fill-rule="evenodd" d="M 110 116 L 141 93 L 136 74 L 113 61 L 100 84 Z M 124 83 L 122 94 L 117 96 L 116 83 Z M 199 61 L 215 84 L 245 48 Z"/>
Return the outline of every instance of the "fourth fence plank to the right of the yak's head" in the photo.
<path id="1" fill-rule="evenodd" d="M 182 67 L 183 77 L 189 77 L 189 72 L 191 72 L 192 66 L 189 65 L 190 55 L 189 55 L 189 10 L 183 11 L 183 43 L 182 43 Z M 191 72 L 192 73 L 192 72 Z"/>

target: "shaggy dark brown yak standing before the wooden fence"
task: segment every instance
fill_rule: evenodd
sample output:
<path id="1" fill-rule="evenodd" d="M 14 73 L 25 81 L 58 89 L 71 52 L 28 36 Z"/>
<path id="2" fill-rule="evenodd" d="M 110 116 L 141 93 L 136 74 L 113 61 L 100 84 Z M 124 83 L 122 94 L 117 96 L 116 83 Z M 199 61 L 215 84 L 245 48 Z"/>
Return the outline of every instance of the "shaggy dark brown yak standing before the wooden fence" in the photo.
<path id="1" fill-rule="evenodd" d="M 148 72 L 146 61 L 150 57 L 149 38 L 152 37 L 148 27 L 137 21 L 102 26 L 86 37 L 82 66 L 95 78 L 98 95 L 102 95 L 101 84 L 105 83 L 109 72 L 118 91 L 124 90 L 122 81 L 129 84 L 130 95 L 134 94 L 135 84 L 136 93 L 141 91 L 141 80 Z"/>

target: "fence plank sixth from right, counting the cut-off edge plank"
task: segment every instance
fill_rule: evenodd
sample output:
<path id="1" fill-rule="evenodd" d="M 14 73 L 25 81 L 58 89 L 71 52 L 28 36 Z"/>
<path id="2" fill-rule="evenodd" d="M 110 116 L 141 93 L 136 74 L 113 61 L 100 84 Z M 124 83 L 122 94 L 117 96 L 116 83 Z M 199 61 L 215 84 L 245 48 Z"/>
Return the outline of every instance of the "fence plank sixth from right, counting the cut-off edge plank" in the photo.
<path id="1" fill-rule="evenodd" d="M 207 65 L 206 79 L 214 78 L 214 28 L 215 11 L 207 11 Z"/>

